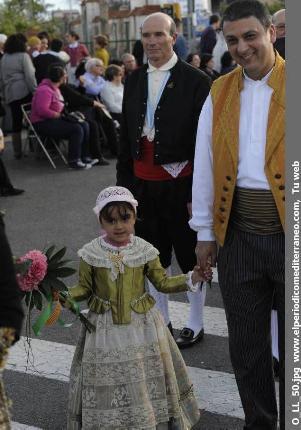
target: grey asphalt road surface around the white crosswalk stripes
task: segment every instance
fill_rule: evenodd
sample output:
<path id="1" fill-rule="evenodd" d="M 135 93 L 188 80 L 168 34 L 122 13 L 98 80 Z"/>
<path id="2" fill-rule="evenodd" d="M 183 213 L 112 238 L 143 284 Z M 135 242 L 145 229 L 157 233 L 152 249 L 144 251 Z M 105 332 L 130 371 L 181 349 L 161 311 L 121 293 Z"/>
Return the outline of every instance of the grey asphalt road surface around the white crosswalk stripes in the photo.
<path id="1" fill-rule="evenodd" d="M 14 254 L 23 255 L 31 249 L 43 250 L 48 242 L 58 247 L 67 245 L 67 258 L 73 259 L 73 266 L 77 267 L 77 250 L 98 234 L 99 225 L 92 208 L 98 193 L 115 184 L 115 160 L 111 160 L 110 166 L 95 166 L 87 171 L 69 171 L 57 160 L 58 168 L 54 170 L 46 159 L 36 161 L 32 154 L 15 160 L 8 142 L 2 157 L 14 186 L 26 190 L 20 196 L 0 197 L 0 210 L 6 212 L 6 232 Z M 172 273 L 179 273 L 175 259 Z M 76 275 L 68 279 L 70 285 L 75 282 Z M 180 306 L 187 302 L 187 296 L 186 293 L 172 294 L 170 300 Z M 217 283 L 207 291 L 206 306 L 209 310 L 223 308 Z M 49 343 L 75 345 L 78 328 L 78 323 L 68 330 L 54 324 L 43 330 L 42 339 Z M 205 369 L 212 374 L 222 372 L 232 377 L 227 337 L 206 333 L 206 327 L 204 329 L 202 342 L 182 350 L 186 364 L 196 370 Z M 175 330 L 175 335 L 178 333 Z M 12 420 L 25 425 L 16 424 L 13 428 L 66 428 L 66 382 L 25 374 L 18 369 L 6 370 L 4 381 L 13 400 Z M 221 386 L 221 393 L 223 390 Z M 226 397 L 227 392 L 223 395 Z M 201 420 L 194 429 L 239 430 L 242 427 L 242 419 L 201 410 Z"/>

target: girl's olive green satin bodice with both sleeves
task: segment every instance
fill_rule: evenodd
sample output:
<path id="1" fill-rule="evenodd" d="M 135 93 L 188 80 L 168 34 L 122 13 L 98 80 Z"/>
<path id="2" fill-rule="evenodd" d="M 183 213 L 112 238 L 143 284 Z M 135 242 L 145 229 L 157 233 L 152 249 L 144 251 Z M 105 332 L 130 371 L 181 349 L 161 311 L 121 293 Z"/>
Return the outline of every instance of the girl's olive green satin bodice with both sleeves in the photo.
<path id="1" fill-rule="evenodd" d="M 130 323 L 131 309 L 145 313 L 155 305 L 153 297 L 145 292 L 145 276 L 162 293 L 188 291 L 187 275 L 166 276 L 159 257 L 138 267 L 124 265 L 124 273 L 111 280 L 110 269 L 95 267 L 83 259 L 79 266 L 79 283 L 69 291 L 76 301 L 87 300 L 95 313 L 112 311 L 116 324 Z"/>

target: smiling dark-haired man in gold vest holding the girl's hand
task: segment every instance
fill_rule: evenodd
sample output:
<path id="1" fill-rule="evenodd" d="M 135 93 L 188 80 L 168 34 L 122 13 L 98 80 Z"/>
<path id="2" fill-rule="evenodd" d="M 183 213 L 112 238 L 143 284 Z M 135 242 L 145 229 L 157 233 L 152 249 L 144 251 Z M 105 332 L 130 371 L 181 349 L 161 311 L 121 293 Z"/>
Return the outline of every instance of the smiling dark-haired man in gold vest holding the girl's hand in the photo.
<path id="1" fill-rule="evenodd" d="M 223 33 L 241 66 L 213 83 L 198 124 L 193 176 L 196 255 L 216 265 L 245 430 L 276 430 L 270 320 L 278 309 L 280 428 L 284 417 L 285 61 L 258 0 L 236 0 Z"/>

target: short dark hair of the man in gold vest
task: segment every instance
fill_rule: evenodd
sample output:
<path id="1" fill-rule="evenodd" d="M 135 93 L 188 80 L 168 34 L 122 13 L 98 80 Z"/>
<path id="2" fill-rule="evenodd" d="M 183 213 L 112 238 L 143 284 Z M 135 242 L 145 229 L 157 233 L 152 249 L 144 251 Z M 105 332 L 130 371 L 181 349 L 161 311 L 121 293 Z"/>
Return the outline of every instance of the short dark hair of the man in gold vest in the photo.
<path id="1" fill-rule="evenodd" d="M 236 21 L 249 17 L 256 17 L 266 30 L 272 22 L 267 7 L 259 0 L 235 0 L 223 14 L 222 28 L 226 21 Z"/>

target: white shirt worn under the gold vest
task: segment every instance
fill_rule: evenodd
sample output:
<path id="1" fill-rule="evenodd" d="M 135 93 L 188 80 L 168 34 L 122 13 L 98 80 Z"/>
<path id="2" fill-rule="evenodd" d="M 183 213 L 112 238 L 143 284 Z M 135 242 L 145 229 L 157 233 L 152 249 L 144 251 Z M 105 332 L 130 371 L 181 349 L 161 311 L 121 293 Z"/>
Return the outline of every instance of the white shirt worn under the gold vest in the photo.
<path id="1" fill-rule="evenodd" d="M 273 88 L 267 82 L 273 69 L 261 80 L 250 79 L 243 72 L 240 91 L 239 147 L 236 185 L 244 188 L 270 189 L 264 172 L 269 105 Z M 211 93 L 200 114 L 192 186 L 190 227 L 199 241 L 215 240 L 213 235 L 213 161 Z"/>

